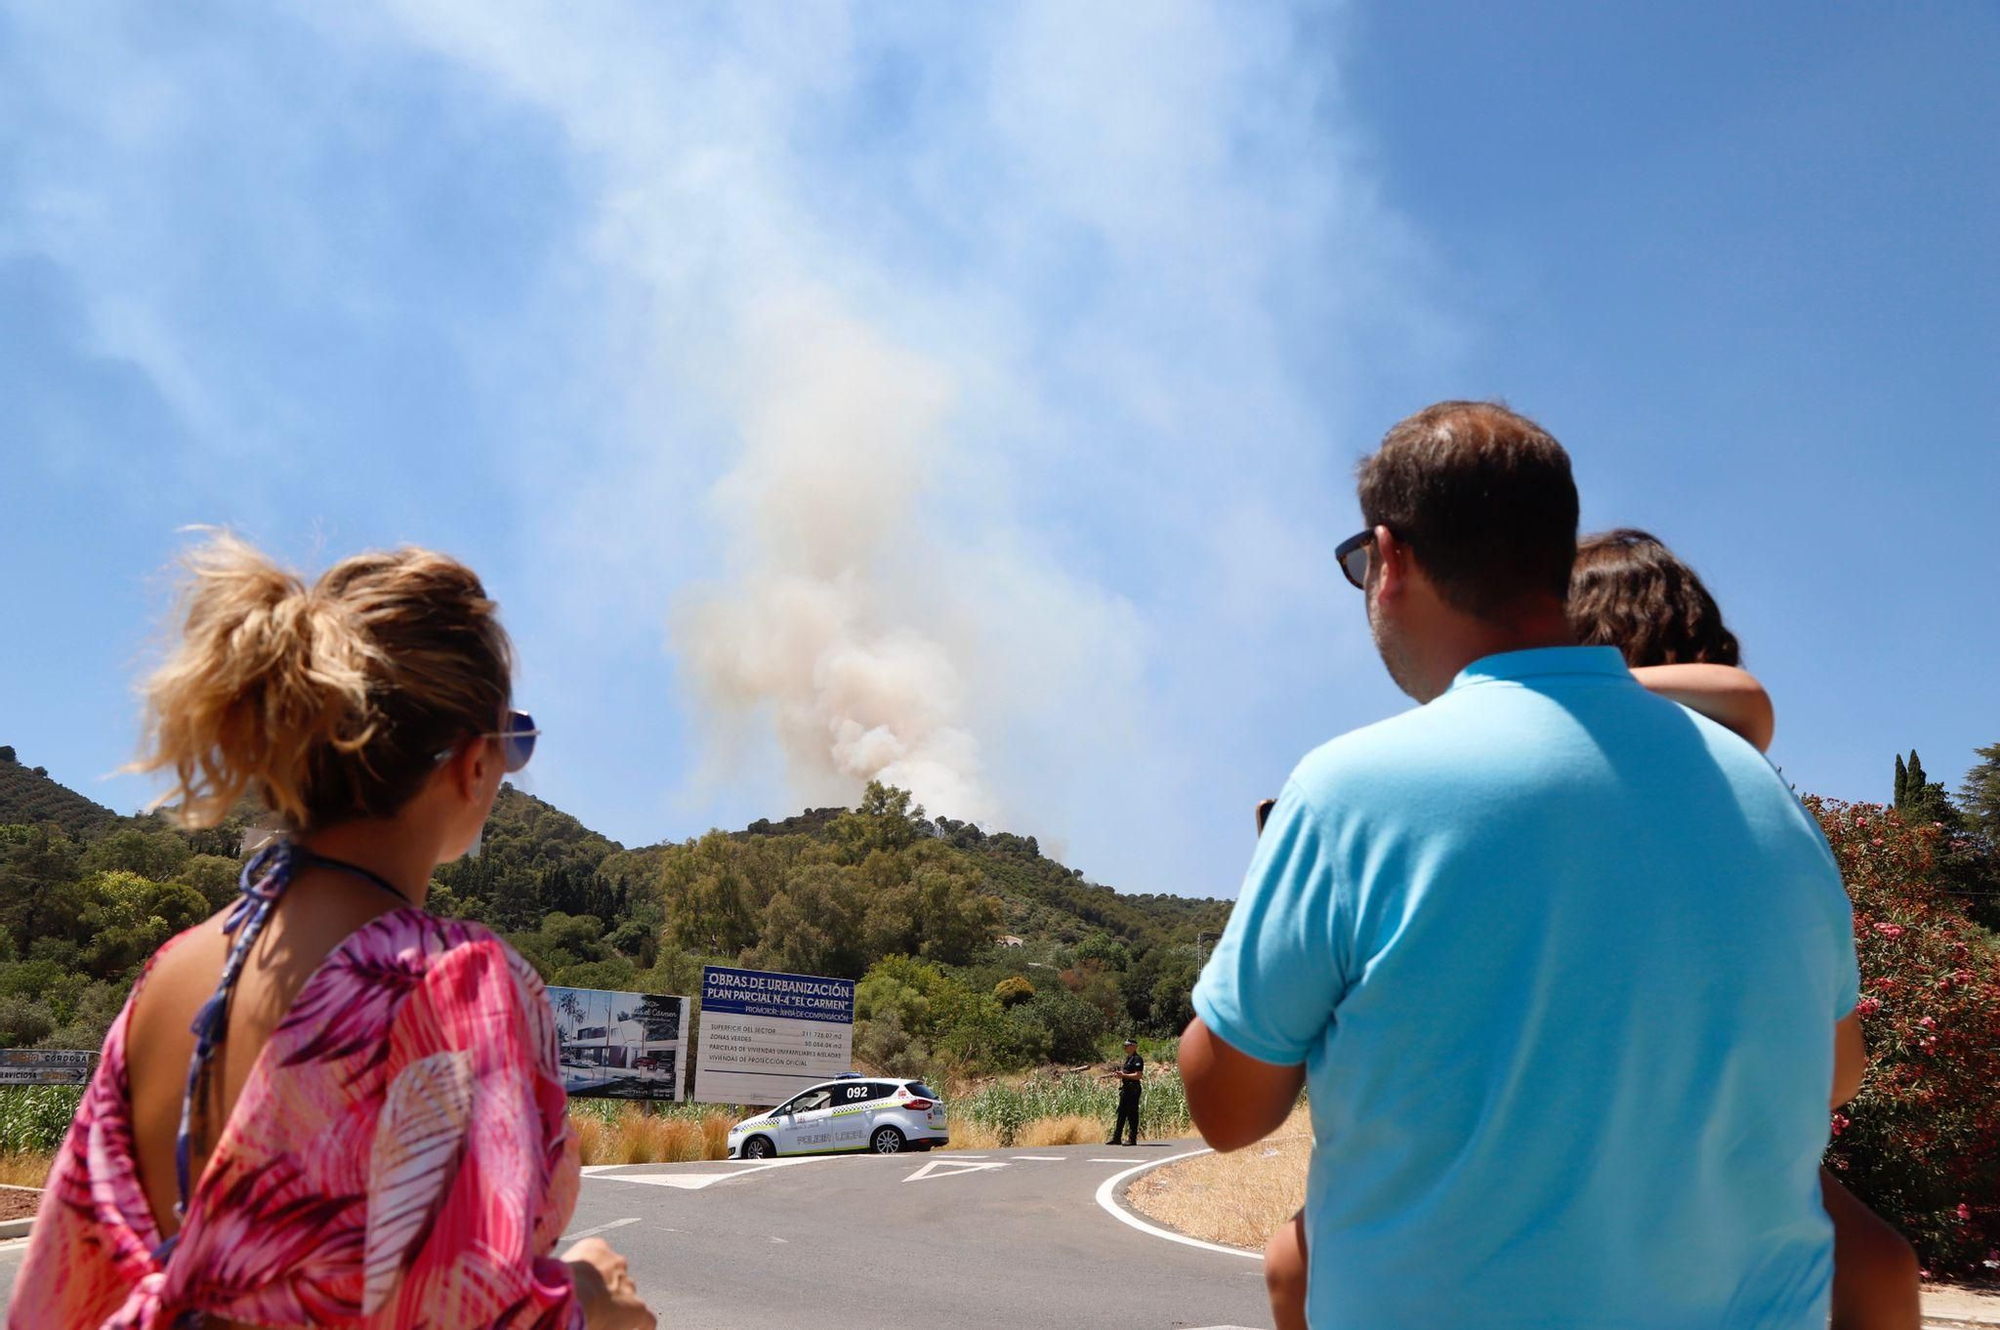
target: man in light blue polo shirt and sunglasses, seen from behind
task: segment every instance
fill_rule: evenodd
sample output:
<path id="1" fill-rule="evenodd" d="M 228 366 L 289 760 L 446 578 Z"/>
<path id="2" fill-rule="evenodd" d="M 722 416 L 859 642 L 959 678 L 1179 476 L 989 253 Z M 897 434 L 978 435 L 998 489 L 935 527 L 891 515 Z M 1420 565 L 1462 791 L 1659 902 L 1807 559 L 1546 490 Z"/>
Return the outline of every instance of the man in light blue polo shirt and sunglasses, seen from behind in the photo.
<path id="1" fill-rule="evenodd" d="M 1196 1124 L 1246 1146 L 1310 1082 L 1316 1330 L 1818 1330 L 1860 1076 L 1826 842 L 1756 750 L 1574 646 L 1576 488 L 1532 420 L 1432 406 L 1360 506 L 1340 564 L 1422 706 L 1286 782 L 1194 992 Z"/>

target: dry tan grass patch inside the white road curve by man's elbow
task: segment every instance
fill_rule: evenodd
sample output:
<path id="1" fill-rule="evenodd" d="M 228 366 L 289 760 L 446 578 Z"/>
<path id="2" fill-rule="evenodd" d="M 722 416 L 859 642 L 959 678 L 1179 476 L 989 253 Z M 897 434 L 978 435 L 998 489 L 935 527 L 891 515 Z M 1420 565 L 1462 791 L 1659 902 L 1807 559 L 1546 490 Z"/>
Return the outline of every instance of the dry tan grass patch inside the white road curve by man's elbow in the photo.
<path id="1" fill-rule="evenodd" d="M 1312 1124 L 1298 1108 L 1282 1128 L 1234 1154 L 1202 1154 L 1142 1174 L 1128 1192 L 1134 1210 L 1204 1242 L 1262 1250 L 1306 1204 Z"/>

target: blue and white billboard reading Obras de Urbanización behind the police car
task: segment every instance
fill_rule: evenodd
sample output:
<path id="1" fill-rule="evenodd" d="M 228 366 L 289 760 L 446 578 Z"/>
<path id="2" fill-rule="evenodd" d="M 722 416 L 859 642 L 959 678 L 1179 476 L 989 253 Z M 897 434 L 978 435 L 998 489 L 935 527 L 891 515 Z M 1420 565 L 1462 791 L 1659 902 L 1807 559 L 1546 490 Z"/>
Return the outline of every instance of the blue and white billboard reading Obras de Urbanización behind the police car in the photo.
<path id="1" fill-rule="evenodd" d="M 854 1062 L 854 980 L 772 970 L 702 970 L 694 1098 L 782 1104 Z"/>

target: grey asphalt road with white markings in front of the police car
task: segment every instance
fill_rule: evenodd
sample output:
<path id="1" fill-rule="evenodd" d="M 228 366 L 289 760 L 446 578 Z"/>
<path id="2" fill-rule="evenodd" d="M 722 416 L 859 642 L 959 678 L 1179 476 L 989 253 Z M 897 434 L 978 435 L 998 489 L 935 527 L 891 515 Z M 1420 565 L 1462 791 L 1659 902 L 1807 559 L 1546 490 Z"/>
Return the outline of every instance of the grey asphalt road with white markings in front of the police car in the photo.
<path id="1" fill-rule="evenodd" d="M 1256 1260 L 1096 1202 L 1106 1178 L 1198 1144 L 592 1170 L 566 1236 L 624 1252 L 674 1330 L 1270 1326 Z M 18 1268 L 0 1246 L 0 1288 Z"/>

